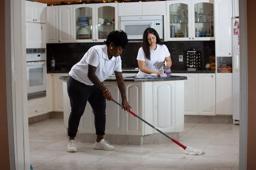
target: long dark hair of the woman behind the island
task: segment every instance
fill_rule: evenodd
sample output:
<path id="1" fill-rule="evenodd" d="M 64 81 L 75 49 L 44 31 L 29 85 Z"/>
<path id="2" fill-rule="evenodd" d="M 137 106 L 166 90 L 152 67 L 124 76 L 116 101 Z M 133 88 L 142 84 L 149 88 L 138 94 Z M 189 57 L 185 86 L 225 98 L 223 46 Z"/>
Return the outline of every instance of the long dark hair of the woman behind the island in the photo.
<path id="1" fill-rule="evenodd" d="M 157 38 L 157 44 L 163 45 L 163 42 L 160 40 L 157 31 L 154 28 L 147 28 L 143 33 L 143 42 L 142 48 L 145 53 L 145 57 L 150 60 L 150 44 L 148 43 L 148 34 L 154 34 Z"/>

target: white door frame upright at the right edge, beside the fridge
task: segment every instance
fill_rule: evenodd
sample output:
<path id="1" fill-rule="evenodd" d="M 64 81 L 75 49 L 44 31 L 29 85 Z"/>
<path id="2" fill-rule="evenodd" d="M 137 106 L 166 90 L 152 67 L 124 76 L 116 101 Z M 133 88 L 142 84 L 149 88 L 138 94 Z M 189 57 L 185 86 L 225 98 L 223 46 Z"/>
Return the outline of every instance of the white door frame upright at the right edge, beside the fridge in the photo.
<path id="1" fill-rule="evenodd" d="M 247 120 L 248 120 L 247 0 L 239 0 L 239 34 L 240 34 L 239 170 L 247 170 Z"/>

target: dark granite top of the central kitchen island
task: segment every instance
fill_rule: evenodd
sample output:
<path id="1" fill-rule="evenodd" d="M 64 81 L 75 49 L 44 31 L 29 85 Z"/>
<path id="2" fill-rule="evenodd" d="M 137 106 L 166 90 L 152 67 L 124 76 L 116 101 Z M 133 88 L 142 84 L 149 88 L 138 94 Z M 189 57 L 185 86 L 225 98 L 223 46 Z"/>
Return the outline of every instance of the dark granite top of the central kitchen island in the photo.
<path id="1" fill-rule="evenodd" d="M 67 76 L 61 76 L 59 79 L 67 80 Z M 168 76 L 168 77 L 137 77 L 137 76 L 125 76 L 123 77 L 125 82 L 146 82 L 146 81 L 175 81 L 175 80 L 186 80 L 187 77 L 183 76 Z M 109 77 L 105 82 L 115 82 L 116 77 Z"/>

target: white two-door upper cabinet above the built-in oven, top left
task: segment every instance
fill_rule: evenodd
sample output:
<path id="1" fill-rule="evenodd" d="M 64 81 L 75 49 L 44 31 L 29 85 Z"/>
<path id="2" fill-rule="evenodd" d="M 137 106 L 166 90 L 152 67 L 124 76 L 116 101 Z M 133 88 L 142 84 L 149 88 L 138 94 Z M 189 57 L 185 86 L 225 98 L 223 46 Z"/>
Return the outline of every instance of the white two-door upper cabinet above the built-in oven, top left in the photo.
<path id="1" fill-rule="evenodd" d="M 26 0 L 26 22 L 46 23 L 46 3 L 37 3 Z"/>

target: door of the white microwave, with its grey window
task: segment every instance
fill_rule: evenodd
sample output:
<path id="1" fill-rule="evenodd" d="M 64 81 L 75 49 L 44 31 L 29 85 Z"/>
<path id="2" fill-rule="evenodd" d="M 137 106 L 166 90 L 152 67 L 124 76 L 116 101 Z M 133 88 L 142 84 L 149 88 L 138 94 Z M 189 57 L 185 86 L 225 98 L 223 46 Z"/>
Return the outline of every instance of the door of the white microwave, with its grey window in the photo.
<path id="1" fill-rule="evenodd" d="M 122 21 L 121 29 L 126 32 L 129 40 L 142 40 L 146 28 L 152 28 L 154 21 Z"/>

